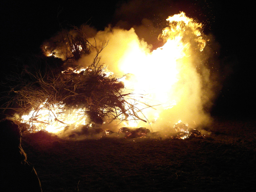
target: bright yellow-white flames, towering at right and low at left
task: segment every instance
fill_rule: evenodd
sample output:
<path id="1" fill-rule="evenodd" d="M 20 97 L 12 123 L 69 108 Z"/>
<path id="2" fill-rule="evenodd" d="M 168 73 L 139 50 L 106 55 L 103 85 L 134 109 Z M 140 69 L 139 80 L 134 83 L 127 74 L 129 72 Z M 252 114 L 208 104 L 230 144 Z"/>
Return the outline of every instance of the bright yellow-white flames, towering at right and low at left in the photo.
<path id="1" fill-rule="evenodd" d="M 202 24 L 186 17 L 184 12 L 170 16 L 167 21 L 168 27 L 159 36 L 164 45 L 152 52 L 150 45 L 140 40 L 133 28 L 129 31 L 106 28 L 88 39 L 92 43 L 96 40 L 97 44 L 109 39 L 108 45 L 101 52 L 101 61 L 117 77 L 125 75 L 120 81 L 124 82 L 126 92 L 132 92 L 137 100 L 140 117 L 147 120 L 145 123 L 127 119 L 119 126 L 169 130 L 179 120 L 195 127 L 210 118 L 203 110 L 208 96 L 203 91 L 203 84 L 209 76 L 209 70 L 203 73 L 200 71 L 204 68 L 202 52 L 206 45 L 201 32 Z M 81 58 L 79 65 L 88 66 L 93 54 Z M 51 132 L 57 132 L 67 124 L 86 122 L 86 116 L 79 110 L 63 110 L 64 106 L 52 107 L 50 110 L 31 110 L 22 119 L 37 126 L 44 125 Z M 36 118 L 34 114 L 38 114 Z"/>

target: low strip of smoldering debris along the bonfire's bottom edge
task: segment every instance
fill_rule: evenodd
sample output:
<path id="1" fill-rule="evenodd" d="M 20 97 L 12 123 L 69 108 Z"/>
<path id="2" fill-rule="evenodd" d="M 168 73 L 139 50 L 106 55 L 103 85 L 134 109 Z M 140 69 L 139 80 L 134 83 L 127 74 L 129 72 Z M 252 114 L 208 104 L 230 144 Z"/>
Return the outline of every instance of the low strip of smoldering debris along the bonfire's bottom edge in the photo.
<path id="1" fill-rule="evenodd" d="M 111 130 L 103 130 L 98 124 L 79 125 L 77 128 L 66 126 L 64 130 L 56 133 L 63 139 L 86 140 L 86 139 L 103 139 L 103 138 L 116 138 L 116 139 L 148 139 L 148 140 L 166 140 L 166 139 L 203 139 L 204 134 L 199 130 L 188 128 L 185 124 L 179 123 L 173 125 L 173 132 L 151 132 L 145 127 L 128 128 L 122 127 L 117 132 Z M 185 128 L 185 130 L 184 130 Z M 179 131 L 179 132 L 177 132 Z"/>

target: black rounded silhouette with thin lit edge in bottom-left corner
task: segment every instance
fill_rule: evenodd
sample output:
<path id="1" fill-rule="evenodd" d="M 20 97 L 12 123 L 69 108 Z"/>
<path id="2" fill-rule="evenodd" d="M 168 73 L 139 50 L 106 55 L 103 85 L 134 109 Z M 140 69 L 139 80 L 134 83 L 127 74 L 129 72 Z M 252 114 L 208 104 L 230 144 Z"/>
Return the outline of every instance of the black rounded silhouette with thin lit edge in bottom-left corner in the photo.
<path id="1" fill-rule="evenodd" d="M 41 183 L 33 165 L 21 145 L 21 132 L 11 120 L 0 122 L 0 191 L 42 192 Z"/>

